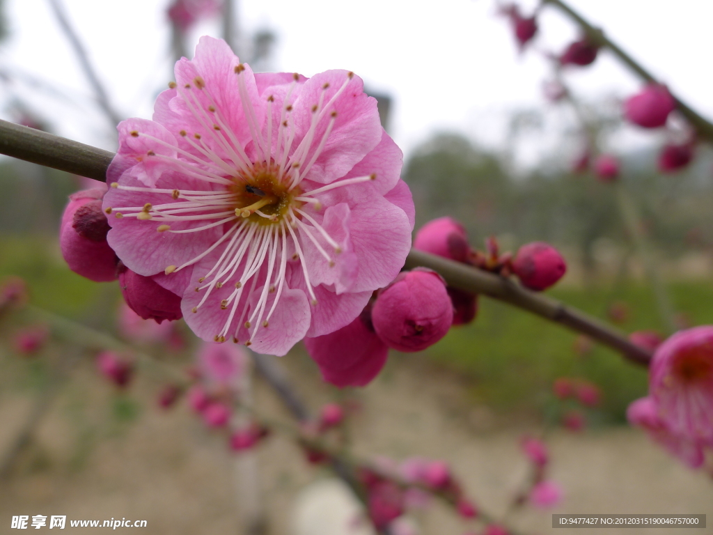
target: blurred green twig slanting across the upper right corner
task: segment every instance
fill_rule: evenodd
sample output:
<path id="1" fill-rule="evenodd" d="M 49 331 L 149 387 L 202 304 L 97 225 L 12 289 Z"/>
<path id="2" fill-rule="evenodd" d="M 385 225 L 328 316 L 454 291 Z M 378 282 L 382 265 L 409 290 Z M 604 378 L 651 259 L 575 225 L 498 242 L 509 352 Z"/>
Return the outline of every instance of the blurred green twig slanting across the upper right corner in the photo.
<path id="1" fill-rule="evenodd" d="M 639 76 L 643 81 L 648 83 L 660 83 L 657 81 L 655 76 L 642 67 L 638 61 L 629 56 L 629 54 L 623 51 L 617 44 L 607 38 L 602 29 L 592 26 L 586 19 L 583 18 L 583 16 L 578 14 L 577 11 L 568 6 L 568 4 L 565 4 L 563 0 L 542 0 L 542 2 L 543 4 L 551 4 L 570 16 L 570 18 L 573 19 L 573 21 L 575 21 L 584 31 L 592 44 L 606 47 L 612 51 L 612 54 L 617 56 L 622 63 L 634 71 L 634 73 L 636 73 L 637 76 Z M 699 138 L 702 138 L 709 143 L 713 143 L 713 124 L 700 116 L 697 111 L 688 106 L 687 103 L 684 103 L 684 101 L 680 98 L 675 95 L 672 96 L 676 100 L 678 111 L 680 111 L 682 115 L 687 118 L 688 122 L 697 132 Z"/>

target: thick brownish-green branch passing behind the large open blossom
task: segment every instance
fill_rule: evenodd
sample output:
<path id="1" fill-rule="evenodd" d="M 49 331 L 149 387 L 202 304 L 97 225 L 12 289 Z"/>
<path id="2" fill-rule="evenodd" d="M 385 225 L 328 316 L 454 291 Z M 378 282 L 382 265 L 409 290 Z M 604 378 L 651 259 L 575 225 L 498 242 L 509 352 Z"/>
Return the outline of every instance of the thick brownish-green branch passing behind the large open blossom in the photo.
<path id="1" fill-rule="evenodd" d="M 7 121 L 0 121 L 0 153 L 96 180 L 106 180 L 106 168 L 113 156 L 108 151 Z M 81 172 L 78 168 L 81 168 Z M 511 280 L 446 258 L 411 250 L 409 258 L 406 259 L 406 268 L 418 266 L 437 271 L 446 279 L 448 285 L 508 302 L 582 332 L 620 352 L 632 362 L 647 365 L 651 360 L 650 352 L 632 344 L 619 330 L 550 297 L 525 290 Z"/>

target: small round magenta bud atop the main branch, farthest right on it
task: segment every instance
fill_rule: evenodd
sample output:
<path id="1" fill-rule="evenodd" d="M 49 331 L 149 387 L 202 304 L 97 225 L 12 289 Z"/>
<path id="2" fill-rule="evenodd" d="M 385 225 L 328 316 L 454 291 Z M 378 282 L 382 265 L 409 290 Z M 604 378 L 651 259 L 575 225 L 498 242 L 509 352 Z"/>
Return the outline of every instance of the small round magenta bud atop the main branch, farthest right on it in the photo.
<path id="1" fill-rule="evenodd" d="M 552 245 L 533 242 L 518 250 L 513 270 L 523 286 L 539 292 L 560 280 L 567 271 L 567 265 Z"/>

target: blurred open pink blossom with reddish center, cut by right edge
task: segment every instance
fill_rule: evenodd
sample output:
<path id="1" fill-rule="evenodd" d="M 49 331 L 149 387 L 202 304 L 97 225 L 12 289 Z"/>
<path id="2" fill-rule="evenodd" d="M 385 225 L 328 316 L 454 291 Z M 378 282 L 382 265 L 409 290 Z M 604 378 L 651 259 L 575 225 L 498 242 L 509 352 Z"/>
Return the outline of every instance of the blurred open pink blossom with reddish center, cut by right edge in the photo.
<path id="1" fill-rule="evenodd" d="M 713 445 L 713 326 L 679 331 L 656 350 L 649 392 L 679 437 Z"/>

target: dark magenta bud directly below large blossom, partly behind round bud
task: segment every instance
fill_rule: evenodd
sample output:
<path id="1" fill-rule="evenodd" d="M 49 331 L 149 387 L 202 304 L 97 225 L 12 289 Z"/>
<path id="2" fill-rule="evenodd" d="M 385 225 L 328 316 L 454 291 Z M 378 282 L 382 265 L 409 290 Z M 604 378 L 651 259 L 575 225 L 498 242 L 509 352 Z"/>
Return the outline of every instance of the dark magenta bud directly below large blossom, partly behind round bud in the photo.
<path id="1" fill-rule="evenodd" d="M 371 305 L 347 327 L 329 335 L 305 338 L 304 346 L 317 362 L 322 378 L 340 388 L 366 386 L 389 356 L 389 346 L 374 331 Z"/>

